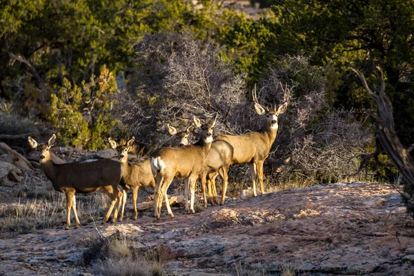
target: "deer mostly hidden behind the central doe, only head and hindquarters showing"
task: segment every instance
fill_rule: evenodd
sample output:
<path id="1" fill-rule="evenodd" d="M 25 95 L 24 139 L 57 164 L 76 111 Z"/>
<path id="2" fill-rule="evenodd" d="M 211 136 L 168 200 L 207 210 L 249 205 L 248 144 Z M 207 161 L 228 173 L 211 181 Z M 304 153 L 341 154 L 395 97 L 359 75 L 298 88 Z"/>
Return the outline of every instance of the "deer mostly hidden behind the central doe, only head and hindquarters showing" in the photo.
<path id="1" fill-rule="evenodd" d="M 178 132 L 173 126 L 168 126 L 168 133 L 178 138 L 179 146 L 188 145 L 188 136 L 194 132 L 194 124 L 188 126 L 186 131 Z M 217 190 L 215 186 L 215 179 L 217 175 L 221 175 L 223 185 L 227 186 L 228 182 L 228 168 L 233 159 L 233 146 L 223 140 L 215 140 L 211 144 L 210 151 L 206 156 L 206 168 L 201 174 L 201 190 L 203 191 L 204 207 L 207 207 L 206 199 L 206 182 L 208 187 L 208 198 L 211 206 L 219 204 L 217 198 Z"/>

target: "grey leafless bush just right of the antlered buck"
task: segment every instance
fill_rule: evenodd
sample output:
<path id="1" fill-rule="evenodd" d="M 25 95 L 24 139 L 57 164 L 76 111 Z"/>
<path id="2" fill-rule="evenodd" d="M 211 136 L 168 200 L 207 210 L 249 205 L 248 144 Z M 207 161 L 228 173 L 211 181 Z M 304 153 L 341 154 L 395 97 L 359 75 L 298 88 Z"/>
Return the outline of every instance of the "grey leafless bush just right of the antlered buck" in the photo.
<path id="1" fill-rule="evenodd" d="M 357 170 L 351 157 L 365 152 L 372 136 L 354 110 L 333 108 L 326 90 L 324 72 L 309 65 L 306 57 L 286 57 L 282 66 L 270 68 L 261 79 L 263 101 L 272 103 L 280 97 L 279 83 L 293 88 L 290 108 L 279 121 L 279 133 L 273 144 L 266 171 L 274 174 L 282 166 L 286 181 L 293 171 L 302 181 L 315 183 L 345 179 Z M 326 74 L 328 75 L 328 74 Z"/>

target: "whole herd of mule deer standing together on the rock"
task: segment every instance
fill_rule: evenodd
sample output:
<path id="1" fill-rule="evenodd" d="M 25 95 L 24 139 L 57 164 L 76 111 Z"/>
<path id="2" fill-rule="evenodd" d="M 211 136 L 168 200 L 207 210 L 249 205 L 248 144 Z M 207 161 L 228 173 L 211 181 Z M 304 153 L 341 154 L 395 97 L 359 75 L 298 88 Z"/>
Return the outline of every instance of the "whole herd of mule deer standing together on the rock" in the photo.
<path id="1" fill-rule="evenodd" d="M 283 88 L 282 88 L 283 89 Z M 185 210 L 186 213 L 195 213 L 195 184 L 201 179 L 204 207 L 207 207 L 206 188 L 208 199 L 214 206 L 219 204 L 215 179 L 220 175 L 223 179 L 221 202 L 226 199 L 228 186 L 228 170 L 231 165 L 248 163 L 252 176 L 253 195 L 256 196 L 256 179 L 259 178 L 262 193 L 265 193 L 263 183 L 263 164 L 270 152 L 270 147 L 277 136 L 277 117 L 286 111 L 289 99 L 289 89 L 285 86 L 284 102 L 275 105 L 273 109 L 262 106 L 257 101 L 256 89 L 253 90 L 255 111 L 258 115 L 265 115 L 266 120 L 258 131 L 246 132 L 244 135 L 219 135 L 213 139 L 213 128 L 217 121 L 216 115 L 210 121 L 201 124 L 197 117 L 193 117 L 193 124 L 185 131 L 178 132 L 168 125 L 170 135 L 177 137 L 178 147 L 164 147 L 156 150 L 150 158 L 132 163 L 128 161 L 128 151 L 135 144 L 132 137 L 126 145 L 120 146 L 109 138 L 111 148 L 117 150 L 118 161 L 112 159 L 99 159 L 90 162 L 75 162 L 55 164 L 52 161 L 50 148 L 56 144 L 57 137 L 52 135 L 47 144 L 38 144 L 32 137 L 28 137 L 32 148 L 37 148 L 41 154 L 39 162 L 46 177 L 52 182 L 55 190 L 66 195 L 66 229 L 70 228 L 70 210 L 73 210 L 76 228 L 80 222 L 76 210 L 76 193 L 90 194 L 103 189 L 110 198 L 110 206 L 102 224 L 108 221 L 112 210 L 117 204 L 112 222 L 124 218 L 127 190 L 132 190 L 132 204 L 134 206 L 134 219 L 137 219 L 137 195 L 139 188 L 152 188 L 154 190 L 155 217 L 161 217 L 161 206 L 166 201 L 168 215 L 174 217 L 168 201 L 167 190 L 174 178 L 184 179 Z M 189 145 L 188 137 L 195 128 L 201 128 L 197 143 Z M 214 141 L 213 141 L 214 140 Z M 122 187 L 120 191 L 118 186 Z M 190 206 L 188 206 L 188 190 L 190 190 Z"/>

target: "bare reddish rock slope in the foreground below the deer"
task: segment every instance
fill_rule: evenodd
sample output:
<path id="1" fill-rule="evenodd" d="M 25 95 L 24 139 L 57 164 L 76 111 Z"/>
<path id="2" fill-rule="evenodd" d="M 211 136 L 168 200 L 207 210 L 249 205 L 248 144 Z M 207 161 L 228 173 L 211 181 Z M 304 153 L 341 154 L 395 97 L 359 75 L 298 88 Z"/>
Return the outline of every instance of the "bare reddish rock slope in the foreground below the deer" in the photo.
<path id="1" fill-rule="evenodd" d="M 0 275 L 88 273 L 82 253 L 98 231 L 164 248 L 163 268 L 178 275 L 237 275 L 242 268 L 277 275 L 284 267 L 305 275 L 414 275 L 414 220 L 389 184 L 295 188 L 195 215 L 173 211 L 174 219 L 144 215 L 1 239 Z"/>

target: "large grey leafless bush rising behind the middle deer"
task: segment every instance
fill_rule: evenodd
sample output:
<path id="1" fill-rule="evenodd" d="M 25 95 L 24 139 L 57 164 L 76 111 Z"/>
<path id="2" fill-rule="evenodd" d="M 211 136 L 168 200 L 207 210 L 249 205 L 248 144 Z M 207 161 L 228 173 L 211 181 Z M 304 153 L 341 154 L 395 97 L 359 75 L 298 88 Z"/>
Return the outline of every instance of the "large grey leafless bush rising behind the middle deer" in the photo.
<path id="1" fill-rule="evenodd" d="M 183 129 L 193 115 L 214 112 L 221 115 L 216 133 L 244 129 L 244 76 L 219 59 L 219 48 L 184 32 L 147 35 L 135 49 L 129 93 L 121 93 L 115 109 L 137 139 L 165 144 L 166 124 Z"/>

